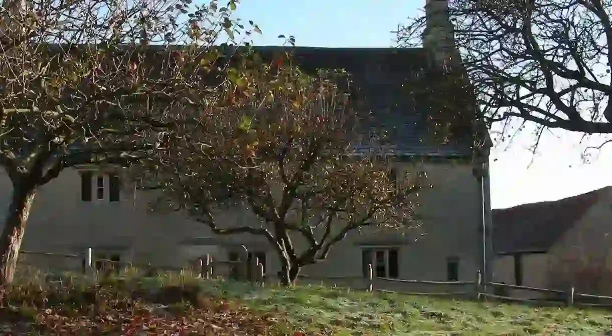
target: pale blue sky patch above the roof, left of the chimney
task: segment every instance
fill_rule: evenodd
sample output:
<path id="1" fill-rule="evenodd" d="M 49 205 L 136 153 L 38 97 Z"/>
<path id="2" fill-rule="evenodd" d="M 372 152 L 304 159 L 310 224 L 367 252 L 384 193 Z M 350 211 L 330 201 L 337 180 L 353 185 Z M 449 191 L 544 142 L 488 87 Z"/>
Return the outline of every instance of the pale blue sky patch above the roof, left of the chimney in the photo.
<path id="1" fill-rule="evenodd" d="M 236 16 L 253 20 L 263 35 L 256 45 L 278 45 L 278 35 L 294 35 L 300 46 L 390 46 L 390 31 L 424 1 L 242 0 Z"/>

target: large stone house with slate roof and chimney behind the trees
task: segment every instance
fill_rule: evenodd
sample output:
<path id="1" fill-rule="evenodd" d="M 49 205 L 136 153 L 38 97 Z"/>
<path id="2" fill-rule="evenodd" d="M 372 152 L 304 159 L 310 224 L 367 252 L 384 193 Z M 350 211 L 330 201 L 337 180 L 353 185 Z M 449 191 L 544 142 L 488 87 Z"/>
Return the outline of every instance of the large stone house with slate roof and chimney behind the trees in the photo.
<path id="1" fill-rule="evenodd" d="M 442 68 L 457 56 L 447 1 L 428 0 L 427 30 L 423 48 L 309 48 L 293 49 L 305 69 L 344 68 L 360 87 L 359 108 L 371 115 L 357 152 L 384 150 L 396 172 L 418 166 L 435 186 L 421 193 L 419 228 L 397 232 L 364 230 L 337 244 L 326 261 L 308 266 L 312 277 L 363 277 L 369 263 L 376 277 L 417 280 L 474 280 L 478 270 L 489 276 L 490 255 L 490 140 L 473 120 L 453 139 L 439 139 L 428 126 L 436 111 L 473 117 L 477 107 L 466 86 L 425 88 L 419 83 L 431 68 Z M 258 47 L 261 54 L 285 51 Z M 442 71 L 444 72 L 444 71 Z M 438 72 L 438 73 L 442 73 Z M 443 75 L 443 74 L 442 74 Z M 436 82 L 443 78 L 430 78 Z M 412 89 L 406 89 L 411 87 Z M 452 101 L 457 90 L 466 100 Z M 462 98 L 463 99 L 463 98 Z M 450 105 L 454 108 L 450 108 Z M 469 120 L 468 120 L 469 121 Z M 379 134 L 384 130 L 384 136 Z M 480 141 L 475 151 L 475 137 Z M 398 181 L 401 183 L 401 181 Z M 0 202 L 7 204 L 11 184 L 0 172 Z M 249 235 L 214 236 L 202 224 L 176 213 L 152 213 L 153 199 L 122 183 L 121 170 L 113 166 L 80 166 L 65 170 L 43 186 L 29 217 L 23 250 L 82 253 L 136 265 L 184 267 L 195 258 L 211 254 L 226 260 L 239 246 L 264 261 L 266 274 L 280 264 L 266 241 Z M 4 210 L 4 209 L 3 209 Z M 218 222 L 248 223 L 256 217 L 247 209 L 228 211 Z M 299 242 L 296 243 L 299 249 Z M 77 267 L 78 261 L 31 257 L 30 263 Z"/>

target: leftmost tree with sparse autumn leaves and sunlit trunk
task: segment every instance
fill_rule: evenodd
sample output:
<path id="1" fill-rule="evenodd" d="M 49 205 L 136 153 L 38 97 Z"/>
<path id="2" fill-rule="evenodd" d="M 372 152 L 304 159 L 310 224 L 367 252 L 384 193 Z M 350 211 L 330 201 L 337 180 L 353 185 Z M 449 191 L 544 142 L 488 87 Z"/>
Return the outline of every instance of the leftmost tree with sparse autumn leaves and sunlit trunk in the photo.
<path id="1" fill-rule="evenodd" d="M 10 283 L 40 186 L 78 164 L 125 164 L 154 148 L 169 115 L 206 104 L 220 32 L 236 2 L 5 2 L 0 164 L 13 184 L 0 236 Z M 15 7 L 17 6 L 17 7 Z M 178 44 L 178 46 L 170 46 Z M 208 83 L 208 84 L 206 84 Z"/>

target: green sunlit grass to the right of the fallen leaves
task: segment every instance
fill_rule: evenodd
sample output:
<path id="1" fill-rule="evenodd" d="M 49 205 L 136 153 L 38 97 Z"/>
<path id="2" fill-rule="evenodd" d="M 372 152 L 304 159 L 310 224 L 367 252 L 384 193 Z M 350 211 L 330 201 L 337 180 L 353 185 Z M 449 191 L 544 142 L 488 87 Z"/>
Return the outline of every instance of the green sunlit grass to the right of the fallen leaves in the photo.
<path id="1" fill-rule="evenodd" d="M 612 312 L 453 301 L 325 287 L 256 289 L 209 284 L 211 294 L 274 312 L 305 333 L 331 335 L 597 335 Z"/>

